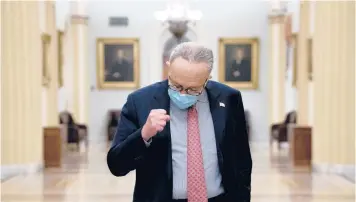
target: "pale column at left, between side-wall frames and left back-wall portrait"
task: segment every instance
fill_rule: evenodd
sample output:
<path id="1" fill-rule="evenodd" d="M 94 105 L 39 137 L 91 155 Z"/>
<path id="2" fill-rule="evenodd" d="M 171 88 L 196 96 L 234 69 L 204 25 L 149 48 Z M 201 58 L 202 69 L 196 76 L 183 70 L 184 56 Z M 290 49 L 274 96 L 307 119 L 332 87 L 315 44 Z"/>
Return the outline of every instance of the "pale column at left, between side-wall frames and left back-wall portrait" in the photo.
<path id="1" fill-rule="evenodd" d="M 88 124 L 89 111 L 89 71 L 88 71 L 88 28 L 87 3 L 85 1 L 71 2 L 71 16 L 68 35 L 71 47 L 72 74 L 68 92 L 69 111 L 75 121 Z"/>

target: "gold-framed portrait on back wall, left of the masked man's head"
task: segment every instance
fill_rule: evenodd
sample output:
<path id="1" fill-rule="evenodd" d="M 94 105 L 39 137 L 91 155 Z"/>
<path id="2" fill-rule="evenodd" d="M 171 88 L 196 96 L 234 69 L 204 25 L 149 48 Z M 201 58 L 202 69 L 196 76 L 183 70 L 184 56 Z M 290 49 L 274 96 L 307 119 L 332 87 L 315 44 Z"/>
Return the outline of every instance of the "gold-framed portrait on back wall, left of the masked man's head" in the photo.
<path id="1" fill-rule="evenodd" d="M 97 39 L 97 80 L 100 89 L 139 87 L 138 38 Z"/>

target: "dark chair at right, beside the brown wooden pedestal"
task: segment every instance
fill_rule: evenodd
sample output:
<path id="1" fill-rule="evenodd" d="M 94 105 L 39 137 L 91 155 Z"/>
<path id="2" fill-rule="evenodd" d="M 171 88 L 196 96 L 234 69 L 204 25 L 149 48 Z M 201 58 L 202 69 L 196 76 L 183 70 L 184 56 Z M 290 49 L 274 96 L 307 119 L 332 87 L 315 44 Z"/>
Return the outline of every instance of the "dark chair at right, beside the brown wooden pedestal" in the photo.
<path id="1" fill-rule="evenodd" d="M 276 123 L 271 126 L 270 147 L 272 148 L 273 141 L 278 142 L 278 149 L 281 148 L 282 142 L 288 142 L 288 125 L 296 124 L 297 112 L 291 111 L 287 114 L 283 123 Z"/>

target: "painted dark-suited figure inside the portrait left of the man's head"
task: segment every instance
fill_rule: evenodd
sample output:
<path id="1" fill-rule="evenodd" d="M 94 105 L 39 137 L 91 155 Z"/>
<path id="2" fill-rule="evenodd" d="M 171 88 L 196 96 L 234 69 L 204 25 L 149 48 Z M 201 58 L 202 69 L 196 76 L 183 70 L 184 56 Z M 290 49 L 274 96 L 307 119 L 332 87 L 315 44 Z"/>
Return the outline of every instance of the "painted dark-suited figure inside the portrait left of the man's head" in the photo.
<path id="1" fill-rule="evenodd" d="M 133 81 L 133 66 L 125 56 L 124 51 L 117 51 L 117 58 L 105 72 L 106 81 Z"/>

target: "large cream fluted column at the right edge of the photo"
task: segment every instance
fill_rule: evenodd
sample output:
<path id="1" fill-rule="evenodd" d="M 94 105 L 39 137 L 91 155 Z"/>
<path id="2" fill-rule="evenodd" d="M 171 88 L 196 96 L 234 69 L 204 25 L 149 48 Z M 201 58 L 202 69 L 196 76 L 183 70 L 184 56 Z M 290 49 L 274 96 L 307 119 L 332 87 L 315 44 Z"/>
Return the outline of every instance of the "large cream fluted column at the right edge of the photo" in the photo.
<path id="1" fill-rule="evenodd" d="M 315 3 L 313 164 L 355 173 L 355 2 Z"/>

